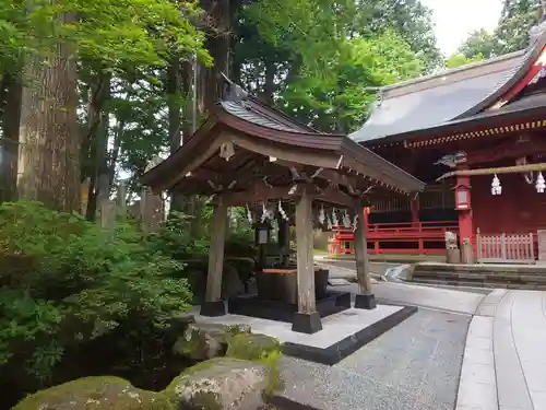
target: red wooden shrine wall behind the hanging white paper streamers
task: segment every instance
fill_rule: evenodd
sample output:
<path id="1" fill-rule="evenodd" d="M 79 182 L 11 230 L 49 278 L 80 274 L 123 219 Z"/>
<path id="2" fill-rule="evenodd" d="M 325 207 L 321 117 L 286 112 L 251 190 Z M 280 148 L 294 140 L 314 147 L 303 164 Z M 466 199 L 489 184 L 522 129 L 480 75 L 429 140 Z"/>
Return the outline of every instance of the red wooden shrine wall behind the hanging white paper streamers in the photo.
<path id="1" fill-rule="evenodd" d="M 537 194 L 520 174 L 499 175 L 502 195 L 491 195 L 492 176 L 473 176 L 474 230 L 484 234 L 536 233 L 546 227 L 546 192 Z"/>

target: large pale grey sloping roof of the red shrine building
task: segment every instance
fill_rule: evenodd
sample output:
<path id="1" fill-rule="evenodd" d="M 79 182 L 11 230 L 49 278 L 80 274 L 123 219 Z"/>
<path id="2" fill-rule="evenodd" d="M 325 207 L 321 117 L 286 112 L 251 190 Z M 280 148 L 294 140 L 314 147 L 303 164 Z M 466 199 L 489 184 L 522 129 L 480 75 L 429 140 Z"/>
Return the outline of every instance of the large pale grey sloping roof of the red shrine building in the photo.
<path id="1" fill-rule="evenodd" d="M 526 75 L 545 45 L 546 32 L 525 50 L 385 86 L 366 124 L 349 137 L 359 143 L 403 139 L 476 115 Z"/>

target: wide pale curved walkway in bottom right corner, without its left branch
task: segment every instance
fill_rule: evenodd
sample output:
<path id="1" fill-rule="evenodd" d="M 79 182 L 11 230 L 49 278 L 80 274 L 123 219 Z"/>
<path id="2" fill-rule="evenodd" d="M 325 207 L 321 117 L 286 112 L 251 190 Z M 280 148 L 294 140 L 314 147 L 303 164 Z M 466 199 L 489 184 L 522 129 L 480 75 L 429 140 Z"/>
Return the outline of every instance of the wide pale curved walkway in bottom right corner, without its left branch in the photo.
<path id="1" fill-rule="evenodd" d="M 546 292 L 492 291 L 472 318 L 456 410 L 546 410 Z"/>

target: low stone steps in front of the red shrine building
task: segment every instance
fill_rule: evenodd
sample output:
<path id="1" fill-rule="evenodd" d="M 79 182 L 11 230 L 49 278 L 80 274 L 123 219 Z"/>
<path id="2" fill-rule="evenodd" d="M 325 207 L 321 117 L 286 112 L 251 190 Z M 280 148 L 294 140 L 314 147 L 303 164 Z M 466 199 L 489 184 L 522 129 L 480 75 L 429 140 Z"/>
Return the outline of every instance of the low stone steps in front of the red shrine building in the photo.
<path id="1" fill-rule="evenodd" d="M 546 266 L 415 263 L 410 281 L 451 286 L 546 290 Z"/>

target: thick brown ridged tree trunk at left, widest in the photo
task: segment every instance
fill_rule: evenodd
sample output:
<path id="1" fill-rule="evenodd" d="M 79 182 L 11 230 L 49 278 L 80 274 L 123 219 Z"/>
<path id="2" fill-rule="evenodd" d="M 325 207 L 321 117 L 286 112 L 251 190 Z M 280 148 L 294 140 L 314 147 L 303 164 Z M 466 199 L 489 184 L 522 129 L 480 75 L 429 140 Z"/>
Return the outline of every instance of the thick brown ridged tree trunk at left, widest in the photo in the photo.
<path id="1" fill-rule="evenodd" d="M 73 15 L 62 14 L 64 22 Z M 26 61 L 20 121 L 17 194 L 58 210 L 80 208 L 76 65 L 58 44 Z"/>

